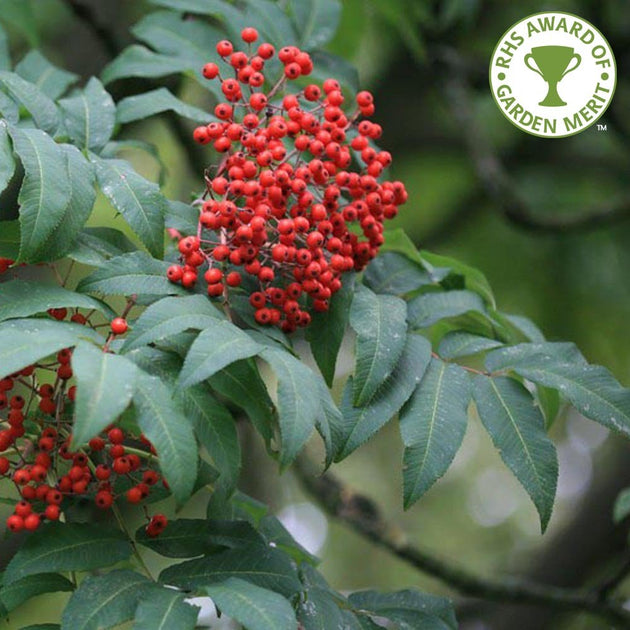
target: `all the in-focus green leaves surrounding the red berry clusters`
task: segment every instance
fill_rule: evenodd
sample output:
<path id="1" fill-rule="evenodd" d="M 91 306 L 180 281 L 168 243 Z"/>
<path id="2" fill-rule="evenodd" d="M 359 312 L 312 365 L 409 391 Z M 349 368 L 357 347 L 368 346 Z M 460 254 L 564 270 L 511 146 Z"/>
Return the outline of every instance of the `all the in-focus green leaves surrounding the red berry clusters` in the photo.
<path id="1" fill-rule="evenodd" d="M 0 256 L 17 260 L 0 278 L 0 378 L 13 378 L 30 395 L 29 366 L 46 374 L 51 357 L 71 349 L 76 397 L 65 410 L 72 431 L 62 439 L 83 454 L 86 442 L 109 425 L 141 432 L 155 452 L 135 443 L 125 448 L 159 466 L 168 488 L 159 487 L 155 500 L 172 495 L 176 505 L 161 503 L 169 523 L 159 536 L 150 525 L 131 534 L 122 501 L 133 482 L 125 479 L 115 488 L 115 517 L 101 522 L 88 500 L 88 516 L 77 517 L 88 522 L 74 522 L 68 510 L 65 522 L 27 532 L 2 575 L 0 613 L 42 593 L 72 592 L 61 626 L 48 626 L 96 630 L 132 621 L 135 630 L 193 629 L 198 610 L 185 599 L 209 597 L 248 630 L 293 630 L 298 621 L 305 630 L 374 630 L 384 623 L 398 630 L 455 628 L 444 598 L 411 590 L 346 598 L 333 590 L 316 570 L 317 558 L 265 505 L 237 490 L 237 419 L 251 423 L 284 471 L 315 431 L 329 466 L 398 418 L 407 508 L 448 471 L 474 401 L 544 530 L 558 475 L 546 430 L 560 403 L 630 437 L 630 391 L 607 369 L 589 365 L 574 345 L 546 342 L 529 320 L 497 310 L 482 272 L 418 251 L 402 231 L 384 235 L 381 254 L 365 271 L 344 275 L 329 310 L 314 313 L 304 335 L 259 325 L 247 282 L 230 301 L 210 300 L 201 281 L 189 289 L 170 282 L 166 271 L 179 252 L 170 242 L 165 247 L 165 227 L 195 233 L 209 192 L 197 191 L 192 205 L 168 199 L 159 152 L 134 137 L 139 125 L 127 125 L 165 113 L 214 121 L 206 107 L 221 93 L 201 68 L 219 40 L 238 37 L 248 25 L 277 47 L 310 51 L 314 79 L 335 76 L 351 92 L 358 81 L 351 64 L 322 50 L 342 17 L 338 0 L 146 4 L 159 10 L 140 11 L 131 32 L 141 43 L 80 87 L 73 87 L 77 75 L 38 50 L 13 67 L 0 28 L 0 193 L 17 195 L 0 222 Z M 441 4 L 436 24 L 464 19 L 456 4 Z M 370 7 L 402 32 L 416 57 L 424 54 L 413 25 L 429 20 L 429 9 L 380 0 Z M 5 0 L 0 19 L 12 25 L 12 37 L 14 29 L 37 39 L 32 3 Z M 127 81 L 132 78 L 142 81 Z M 110 94 L 105 86 L 114 82 Z M 160 185 L 135 162 L 119 159 L 130 148 L 156 158 Z M 207 166 L 213 172 L 215 165 Z M 197 175 L 201 180 L 203 173 Z M 103 203 L 94 212 L 97 191 Z M 101 226 L 103 213 L 124 220 L 122 231 Z M 63 272 L 64 286 L 39 275 L 48 267 Z M 51 309 L 71 309 L 86 325 L 51 319 Z M 109 332 L 120 314 L 129 324 L 124 339 Z M 340 374 L 339 354 L 353 339 L 352 368 Z M 66 385 L 57 385 L 61 377 L 52 380 L 54 413 L 44 417 L 28 402 L 27 430 L 59 425 L 58 393 Z M 15 455 L 11 446 L 6 453 Z M 98 457 L 89 463 L 92 472 Z M 177 516 L 193 494 L 207 518 Z M 63 500 L 80 507 L 79 497 Z M 630 514 L 629 506 L 626 491 L 615 506 L 616 521 Z M 157 580 L 144 575 L 147 550 L 160 556 Z"/>

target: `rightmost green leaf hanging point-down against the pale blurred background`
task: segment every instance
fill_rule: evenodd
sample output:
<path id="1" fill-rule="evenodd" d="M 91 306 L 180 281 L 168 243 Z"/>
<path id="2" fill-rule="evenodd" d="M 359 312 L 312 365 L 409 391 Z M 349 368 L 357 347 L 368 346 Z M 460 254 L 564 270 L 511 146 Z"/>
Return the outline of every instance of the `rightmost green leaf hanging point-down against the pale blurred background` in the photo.
<path id="1" fill-rule="evenodd" d="M 494 446 L 532 498 L 544 532 L 553 510 L 558 458 L 540 410 L 531 394 L 511 378 L 479 375 L 473 381 L 473 396 Z"/>

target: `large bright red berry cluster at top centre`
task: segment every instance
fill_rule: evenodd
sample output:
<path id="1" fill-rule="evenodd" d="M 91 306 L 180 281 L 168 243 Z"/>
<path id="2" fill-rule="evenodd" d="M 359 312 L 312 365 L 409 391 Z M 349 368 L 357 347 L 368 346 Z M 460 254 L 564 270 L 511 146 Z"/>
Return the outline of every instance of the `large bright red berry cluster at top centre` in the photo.
<path id="1" fill-rule="evenodd" d="M 295 46 L 280 49 L 284 73 L 265 92 L 274 47 L 253 51 L 253 28 L 241 36 L 247 53 L 229 41 L 217 44 L 233 77 L 214 63 L 203 67 L 207 79 L 221 81 L 226 102 L 194 138 L 224 157 L 214 177 L 206 176 L 197 234 L 179 235 L 182 264 L 167 275 L 191 288 L 206 266 L 211 297 L 228 300 L 240 287 L 258 323 L 291 332 L 308 325 L 312 310 L 328 309 L 344 272 L 374 258 L 383 221 L 396 216 L 407 193 L 401 182 L 378 181 L 392 158 L 373 144 L 381 127 L 365 119 L 374 113 L 369 92 L 357 95 L 352 112 L 344 111 L 334 79 L 276 98 L 288 81 L 311 73 L 310 56 Z"/>

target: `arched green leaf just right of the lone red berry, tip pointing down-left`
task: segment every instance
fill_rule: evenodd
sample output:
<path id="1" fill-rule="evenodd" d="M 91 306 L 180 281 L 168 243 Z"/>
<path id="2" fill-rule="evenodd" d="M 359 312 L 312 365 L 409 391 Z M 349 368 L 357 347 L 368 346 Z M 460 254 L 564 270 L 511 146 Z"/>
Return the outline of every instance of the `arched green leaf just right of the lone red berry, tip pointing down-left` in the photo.
<path id="1" fill-rule="evenodd" d="M 151 304 L 134 322 L 122 351 L 129 352 L 184 330 L 203 330 L 222 318 L 222 313 L 203 295 L 163 298 Z"/>

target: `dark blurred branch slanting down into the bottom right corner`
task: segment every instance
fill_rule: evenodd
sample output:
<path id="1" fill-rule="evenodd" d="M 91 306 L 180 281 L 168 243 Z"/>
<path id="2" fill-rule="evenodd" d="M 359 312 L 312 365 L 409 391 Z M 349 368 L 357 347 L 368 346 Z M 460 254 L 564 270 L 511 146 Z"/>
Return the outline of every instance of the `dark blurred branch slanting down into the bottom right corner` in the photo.
<path id="1" fill-rule="evenodd" d="M 331 473 L 319 475 L 315 464 L 305 456 L 298 458 L 295 471 L 305 490 L 329 516 L 463 595 L 503 603 L 536 604 L 556 610 L 588 612 L 607 619 L 616 627 L 630 628 L 630 613 L 616 599 L 602 599 L 597 593 L 582 589 L 561 588 L 510 577 L 496 581 L 475 575 L 410 544 L 402 531 L 383 518 L 380 508 L 371 499 L 354 492 Z"/>

